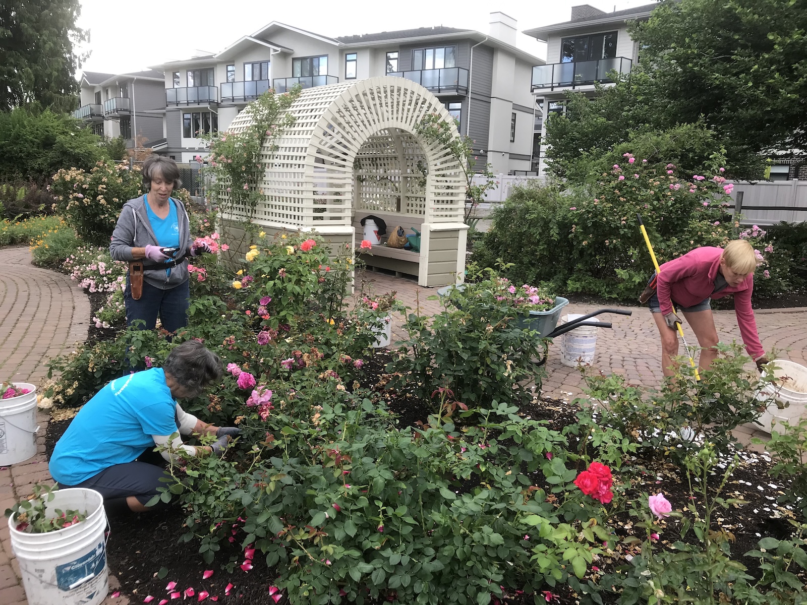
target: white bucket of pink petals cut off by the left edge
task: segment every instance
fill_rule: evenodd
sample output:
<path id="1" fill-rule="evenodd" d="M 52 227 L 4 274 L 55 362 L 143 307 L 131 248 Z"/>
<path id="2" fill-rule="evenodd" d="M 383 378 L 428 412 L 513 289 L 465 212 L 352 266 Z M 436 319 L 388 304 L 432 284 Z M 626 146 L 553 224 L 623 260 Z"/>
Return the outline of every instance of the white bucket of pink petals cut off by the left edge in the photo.
<path id="1" fill-rule="evenodd" d="M 0 399 L 0 466 L 22 462 L 36 454 L 36 386 L 14 382 L 30 392 Z"/>

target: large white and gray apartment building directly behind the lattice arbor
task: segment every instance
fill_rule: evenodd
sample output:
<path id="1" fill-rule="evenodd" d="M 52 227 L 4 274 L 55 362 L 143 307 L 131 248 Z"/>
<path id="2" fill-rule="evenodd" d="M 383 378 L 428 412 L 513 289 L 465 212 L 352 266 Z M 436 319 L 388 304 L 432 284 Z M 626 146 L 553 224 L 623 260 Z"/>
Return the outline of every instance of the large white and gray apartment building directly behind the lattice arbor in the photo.
<path id="1" fill-rule="evenodd" d="M 420 27 L 332 38 L 273 22 L 216 54 L 156 66 L 165 73 L 165 148 L 177 161 L 204 155 L 200 133 L 226 130 L 257 95 L 376 76 L 405 77 L 441 99 L 495 173 L 531 169 L 534 65 L 516 48 L 516 20 L 491 13 L 490 31 Z M 539 123 L 540 126 L 540 123 Z"/>

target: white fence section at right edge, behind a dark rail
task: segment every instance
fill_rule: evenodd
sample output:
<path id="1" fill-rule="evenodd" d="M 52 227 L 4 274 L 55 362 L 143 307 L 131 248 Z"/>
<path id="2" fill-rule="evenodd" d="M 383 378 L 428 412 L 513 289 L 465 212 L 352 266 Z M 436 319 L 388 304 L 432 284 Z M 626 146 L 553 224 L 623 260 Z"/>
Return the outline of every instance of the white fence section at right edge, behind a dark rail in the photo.
<path id="1" fill-rule="evenodd" d="M 807 221 L 807 181 L 739 181 L 731 197 L 744 225 Z"/>

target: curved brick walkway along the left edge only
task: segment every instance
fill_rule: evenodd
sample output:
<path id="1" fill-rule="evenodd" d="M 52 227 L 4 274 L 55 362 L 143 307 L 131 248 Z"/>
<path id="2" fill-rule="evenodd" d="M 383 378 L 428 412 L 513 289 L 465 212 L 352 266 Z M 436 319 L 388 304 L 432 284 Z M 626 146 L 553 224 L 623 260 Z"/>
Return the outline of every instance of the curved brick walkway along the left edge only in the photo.
<path id="1" fill-rule="evenodd" d="M 31 265 L 28 248 L 0 249 L 0 380 L 40 386 L 48 373 L 45 361 L 85 340 L 89 322 L 90 302 L 69 277 Z M 39 411 L 37 420 L 36 456 L 0 468 L 0 513 L 30 495 L 34 483 L 50 481 L 44 454 L 48 415 Z M 5 516 L 0 521 L 0 603 L 27 603 Z"/>

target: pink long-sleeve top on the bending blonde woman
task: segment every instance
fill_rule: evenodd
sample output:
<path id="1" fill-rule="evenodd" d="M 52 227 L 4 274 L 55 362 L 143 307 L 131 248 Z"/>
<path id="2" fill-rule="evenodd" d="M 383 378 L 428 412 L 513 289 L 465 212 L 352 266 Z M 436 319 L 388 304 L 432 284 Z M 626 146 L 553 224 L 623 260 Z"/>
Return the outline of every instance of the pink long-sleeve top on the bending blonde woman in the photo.
<path id="1" fill-rule="evenodd" d="M 672 312 L 671 299 L 681 307 L 693 307 L 709 296 L 723 298 L 727 294 L 734 294 L 734 312 L 737 313 L 742 342 L 748 354 L 757 360 L 765 354 L 765 349 L 759 341 L 754 311 L 751 309 L 754 273 L 749 274 L 739 286 L 725 286 L 717 294 L 712 294 L 722 253 L 723 248 L 704 246 L 661 265 L 661 273 L 656 280 L 659 307 L 666 315 Z"/>

